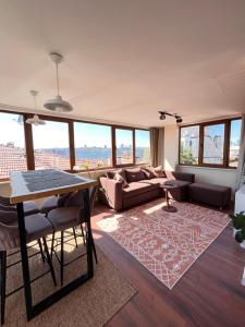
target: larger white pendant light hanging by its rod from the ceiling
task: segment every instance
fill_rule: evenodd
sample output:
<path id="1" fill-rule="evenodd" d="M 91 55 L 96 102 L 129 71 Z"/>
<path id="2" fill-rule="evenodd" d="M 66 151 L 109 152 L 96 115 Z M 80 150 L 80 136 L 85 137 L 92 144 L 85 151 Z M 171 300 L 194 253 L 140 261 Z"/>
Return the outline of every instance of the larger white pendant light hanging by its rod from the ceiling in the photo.
<path id="1" fill-rule="evenodd" d="M 51 52 L 51 60 L 56 63 L 57 66 L 57 97 L 54 99 L 48 100 L 45 102 L 45 108 L 56 112 L 68 112 L 72 111 L 72 105 L 68 101 L 64 101 L 60 96 L 60 85 L 59 85 L 59 70 L 58 64 L 62 61 L 63 57 L 60 53 Z"/>

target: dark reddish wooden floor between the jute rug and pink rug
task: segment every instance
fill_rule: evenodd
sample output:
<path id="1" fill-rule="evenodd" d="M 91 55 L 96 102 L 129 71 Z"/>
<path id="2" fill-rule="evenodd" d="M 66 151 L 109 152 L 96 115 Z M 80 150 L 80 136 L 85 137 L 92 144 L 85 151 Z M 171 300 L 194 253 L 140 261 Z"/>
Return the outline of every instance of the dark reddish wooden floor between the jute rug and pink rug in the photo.
<path id="1" fill-rule="evenodd" d="M 107 327 L 245 326 L 245 287 L 241 286 L 245 250 L 232 239 L 229 226 L 170 291 L 123 247 L 99 230 L 96 243 L 138 290 Z M 109 213 L 109 211 L 108 211 Z"/>

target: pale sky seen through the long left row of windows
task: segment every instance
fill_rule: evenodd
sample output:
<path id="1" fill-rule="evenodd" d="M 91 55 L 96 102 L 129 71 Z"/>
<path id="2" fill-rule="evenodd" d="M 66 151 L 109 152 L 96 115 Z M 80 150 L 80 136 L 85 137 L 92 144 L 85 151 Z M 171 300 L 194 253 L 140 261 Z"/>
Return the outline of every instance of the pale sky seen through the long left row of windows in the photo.
<path id="1" fill-rule="evenodd" d="M 24 129 L 17 123 L 19 114 L 0 112 L 0 144 L 13 142 L 24 147 Z M 118 146 L 130 145 L 132 132 L 118 130 Z M 111 129 L 107 125 L 74 123 L 75 147 L 89 146 L 111 147 Z M 136 131 L 136 143 L 139 147 L 149 146 L 149 132 Z M 69 147 L 68 123 L 47 121 L 46 125 L 33 125 L 34 148 Z"/>

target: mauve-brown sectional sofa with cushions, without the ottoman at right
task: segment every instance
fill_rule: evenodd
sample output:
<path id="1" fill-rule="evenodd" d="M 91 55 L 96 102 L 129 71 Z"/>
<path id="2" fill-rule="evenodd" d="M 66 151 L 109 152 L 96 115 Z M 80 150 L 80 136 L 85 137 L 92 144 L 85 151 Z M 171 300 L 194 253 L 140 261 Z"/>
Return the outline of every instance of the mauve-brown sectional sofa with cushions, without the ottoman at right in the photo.
<path id="1" fill-rule="evenodd" d="M 118 170 L 119 171 L 119 170 Z M 110 171 L 106 177 L 100 178 L 101 187 L 99 199 L 115 210 L 122 210 L 143 202 L 163 196 L 163 190 L 159 186 L 167 180 L 174 180 L 177 189 L 171 191 L 176 201 L 188 198 L 188 185 L 195 182 L 195 174 L 175 171 L 164 171 L 164 177 L 154 177 L 145 172 L 145 169 L 120 169 L 120 173 L 127 182 L 123 187 L 122 181 L 114 179 L 117 171 Z"/>

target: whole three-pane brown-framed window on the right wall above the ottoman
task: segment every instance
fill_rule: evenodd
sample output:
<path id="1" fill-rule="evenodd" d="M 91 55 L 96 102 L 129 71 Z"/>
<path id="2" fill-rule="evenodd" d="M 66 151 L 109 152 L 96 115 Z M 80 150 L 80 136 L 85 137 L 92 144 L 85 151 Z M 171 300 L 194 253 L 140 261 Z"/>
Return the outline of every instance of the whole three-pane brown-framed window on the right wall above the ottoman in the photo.
<path id="1" fill-rule="evenodd" d="M 181 128 L 180 165 L 237 167 L 241 128 L 241 119 Z"/>

